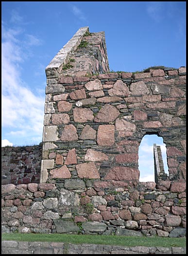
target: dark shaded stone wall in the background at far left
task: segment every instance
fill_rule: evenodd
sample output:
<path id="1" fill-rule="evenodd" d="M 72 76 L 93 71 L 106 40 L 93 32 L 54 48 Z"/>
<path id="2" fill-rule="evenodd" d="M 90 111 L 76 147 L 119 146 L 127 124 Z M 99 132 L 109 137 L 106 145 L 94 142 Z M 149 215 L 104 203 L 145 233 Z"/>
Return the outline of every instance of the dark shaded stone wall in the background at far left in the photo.
<path id="1" fill-rule="evenodd" d="M 42 143 L 1 148 L 1 184 L 39 183 Z"/>

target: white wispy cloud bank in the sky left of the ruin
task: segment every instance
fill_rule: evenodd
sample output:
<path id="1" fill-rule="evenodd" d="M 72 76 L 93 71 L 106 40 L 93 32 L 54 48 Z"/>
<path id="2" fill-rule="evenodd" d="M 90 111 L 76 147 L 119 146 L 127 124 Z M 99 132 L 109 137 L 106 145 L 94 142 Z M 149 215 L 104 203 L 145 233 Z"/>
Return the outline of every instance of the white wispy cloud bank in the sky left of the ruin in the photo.
<path id="1" fill-rule="evenodd" d="M 27 58 L 23 41 L 18 39 L 21 29 L 6 29 L 2 26 L 2 128 L 11 131 L 7 136 L 22 138 L 40 137 L 42 140 L 44 96 L 35 95 L 21 79 L 21 65 Z M 24 35 L 23 35 L 24 36 Z M 30 46 L 39 41 L 32 35 Z M 30 85 L 32 86 L 32 85 Z"/>

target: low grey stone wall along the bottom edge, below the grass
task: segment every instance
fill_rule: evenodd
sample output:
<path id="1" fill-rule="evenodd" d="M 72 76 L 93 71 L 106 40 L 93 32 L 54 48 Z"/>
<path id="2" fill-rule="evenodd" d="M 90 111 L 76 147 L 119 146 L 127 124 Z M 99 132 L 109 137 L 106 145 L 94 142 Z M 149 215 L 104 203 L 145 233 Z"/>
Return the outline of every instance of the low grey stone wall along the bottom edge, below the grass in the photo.
<path id="1" fill-rule="evenodd" d="M 99 244 L 2 241 L 1 254 L 186 254 L 181 247 L 124 247 Z"/>

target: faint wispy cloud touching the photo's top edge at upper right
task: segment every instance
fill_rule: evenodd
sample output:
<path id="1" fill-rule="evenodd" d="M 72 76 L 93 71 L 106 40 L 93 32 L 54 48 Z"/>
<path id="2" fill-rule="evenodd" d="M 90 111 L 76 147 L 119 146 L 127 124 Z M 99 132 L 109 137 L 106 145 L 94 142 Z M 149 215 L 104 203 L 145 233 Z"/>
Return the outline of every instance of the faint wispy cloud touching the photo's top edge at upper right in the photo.
<path id="1" fill-rule="evenodd" d="M 147 13 L 156 22 L 161 21 L 163 19 L 161 2 L 147 2 Z"/>

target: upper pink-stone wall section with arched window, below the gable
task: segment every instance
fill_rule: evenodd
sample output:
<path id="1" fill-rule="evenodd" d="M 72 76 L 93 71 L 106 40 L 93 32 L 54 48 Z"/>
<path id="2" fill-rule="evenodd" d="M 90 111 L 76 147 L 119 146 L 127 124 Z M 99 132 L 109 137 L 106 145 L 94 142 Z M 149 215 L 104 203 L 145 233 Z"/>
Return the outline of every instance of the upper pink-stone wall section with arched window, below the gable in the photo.
<path id="1" fill-rule="evenodd" d="M 138 148 L 146 134 L 163 138 L 170 180 L 185 179 L 185 72 L 151 69 L 48 84 L 40 182 L 138 182 Z M 58 91 L 49 91 L 52 85 Z"/>

